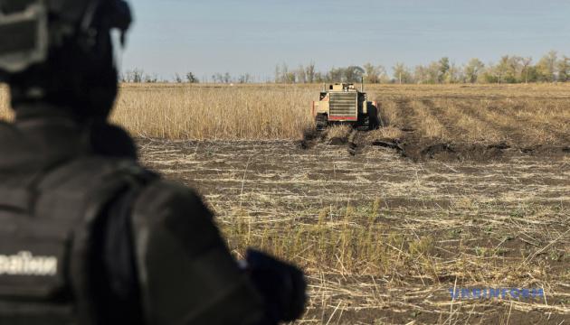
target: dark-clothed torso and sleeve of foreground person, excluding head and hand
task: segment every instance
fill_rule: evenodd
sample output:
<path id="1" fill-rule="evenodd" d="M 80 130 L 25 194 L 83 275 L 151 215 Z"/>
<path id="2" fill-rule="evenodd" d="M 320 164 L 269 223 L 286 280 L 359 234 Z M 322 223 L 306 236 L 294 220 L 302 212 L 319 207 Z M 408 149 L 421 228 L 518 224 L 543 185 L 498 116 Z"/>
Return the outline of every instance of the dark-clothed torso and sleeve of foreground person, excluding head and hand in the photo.
<path id="1" fill-rule="evenodd" d="M 261 323 L 261 295 L 235 264 L 200 197 L 139 167 L 125 154 L 134 144 L 108 134 L 100 147 L 82 141 L 81 132 L 58 116 L 0 122 L 0 325 L 108 325 L 101 310 L 135 310 L 137 304 L 123 303 L 131 297 L 147 324 Z M 114 218 L 119 210 L 121 218 Z M 104 243 L 112 251 L 109 244 L 123 233 L 105 226 L 102 232 L 101 224 L 124 216 L 132 245 L 123 248 L 132 249 L 127 259 L 135 284 L 122 281 L 131 274 L 101 267 L 119 266 L 122 255 L 98 250 Z M 119 234 L 108 236 L 110 229 Z M 101 282 L 112 284 L 110 299 L 98 295 Z M 115 290 L 131 284 L 133 294 Z"/>

